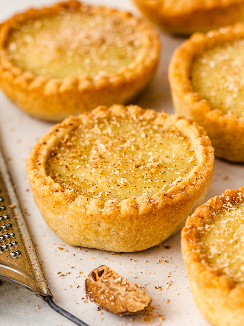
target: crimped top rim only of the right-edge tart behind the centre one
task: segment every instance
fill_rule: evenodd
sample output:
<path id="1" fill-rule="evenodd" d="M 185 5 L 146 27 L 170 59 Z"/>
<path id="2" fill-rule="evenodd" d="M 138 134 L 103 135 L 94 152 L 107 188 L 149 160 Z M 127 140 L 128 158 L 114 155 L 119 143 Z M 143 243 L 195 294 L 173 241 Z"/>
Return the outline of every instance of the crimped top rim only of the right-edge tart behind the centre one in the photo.
<path id="1" fill-rule="evenodd" d="M 220 109 L 214 108 L 203 99 L 199 93 L 193 91 L 189 72 L 192 60 L 202 51 L 214 47 L 223 42 L 244 39 L 244 24 L 236 23 L 211 30 L 207 33 L 194 33 L 189 39 L 178 47 L 169 64 L 169 82 L 172 91 L 189 106 L 193 115 L 206 117 L 211 121 L 218 121 L 226 128 L 244 128 L 243 116 L 237 116 L 229 111 L 224 113 Z"/>

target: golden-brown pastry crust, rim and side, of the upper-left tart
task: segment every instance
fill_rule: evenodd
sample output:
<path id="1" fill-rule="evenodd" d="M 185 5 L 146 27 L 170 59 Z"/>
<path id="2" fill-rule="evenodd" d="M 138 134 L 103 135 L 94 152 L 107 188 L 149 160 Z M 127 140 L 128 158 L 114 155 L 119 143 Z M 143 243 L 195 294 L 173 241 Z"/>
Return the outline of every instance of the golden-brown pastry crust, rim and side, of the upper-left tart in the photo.
<path id="1" fill-rule="evenodd" d="M 153 78 L 159 58 L 160 43 L 156 30 L 142 18 L 135 18 L 138 28 L 146 35 L 147 53 L 134 67 L 126 67 L 119 73 L 96 79 L 63 79 L 34 76 L 28 71 L 15 67 L 4 53 L 4 42 L 11 28 L 29 19 L 50 15 L 61 10 L 82 10 L 91 6 L 70 0 L 53 7 L 29 9 L 16 14 L 0 25 L 0 87 L 6 95 L 15 101 L 24 111 L 37 118 L 49 121 L 61 121 L 67 116 L 82 111 L 91 111 L 98 105 L 110 106 L 114 103 L 128 103 Z M 109 15 L 116 13 L 125 20 L 132 15 L 108 7 L 97 7 Z"/>

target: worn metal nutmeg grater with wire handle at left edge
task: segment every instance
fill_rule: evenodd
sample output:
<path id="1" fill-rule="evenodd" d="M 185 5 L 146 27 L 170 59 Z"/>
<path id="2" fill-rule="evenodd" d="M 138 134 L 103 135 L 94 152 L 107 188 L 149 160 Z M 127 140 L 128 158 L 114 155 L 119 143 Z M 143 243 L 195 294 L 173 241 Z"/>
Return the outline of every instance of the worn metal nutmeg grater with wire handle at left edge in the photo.
<path id="1" fill-rule="evenodd" d="M 53 302 L 1 150 L 0 278 L 23 285 L 64 317 L 77 325 L 88 326 Z"/>

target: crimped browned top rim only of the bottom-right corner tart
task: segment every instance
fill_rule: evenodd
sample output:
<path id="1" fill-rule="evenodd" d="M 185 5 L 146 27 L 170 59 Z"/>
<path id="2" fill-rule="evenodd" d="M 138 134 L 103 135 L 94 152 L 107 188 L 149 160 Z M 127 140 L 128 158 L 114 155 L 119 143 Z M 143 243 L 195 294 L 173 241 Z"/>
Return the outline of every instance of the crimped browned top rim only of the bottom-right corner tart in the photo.
<path id="1" fill-rule="evenodd" d="M 182 229 L 181 247 L 183 258 L 186 265 L 190 265 L 191 274 L 197 276 L 198 281 L 204 286 L 219 288 L 223 293 L 228 293 L 231 297 L 233 305 L 240 305 L 240 298 L 244 295 L 244 282 L 235 282 L 228 278 L 227 275 L 220 270 L 211 267 L 206 260 L 201 256 L 201 247 L 198 243 L 201 227 L 205 226 L 206 222 L 215 220 L 215 212 L 229 203 L 236 203 L 237 200 L 244 200 L 244 186 L 239 189 L 226 189 L 221 196 L 210 198 L 205 204 L 199 206 L 194 214 L 186 220 L 185 226 Z M 243 305 L 243 304 L 242 304 Z"/>

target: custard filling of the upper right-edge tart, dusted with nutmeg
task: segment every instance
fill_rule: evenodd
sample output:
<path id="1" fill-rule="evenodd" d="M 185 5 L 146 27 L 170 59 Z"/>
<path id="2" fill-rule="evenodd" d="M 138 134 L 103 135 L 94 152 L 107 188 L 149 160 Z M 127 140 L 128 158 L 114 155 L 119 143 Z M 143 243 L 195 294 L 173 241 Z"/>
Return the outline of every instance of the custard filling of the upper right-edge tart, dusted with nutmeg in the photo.
<path id="1" fill-rule="evenodd" d="M 205 50 L 191 67 L 193 91 L 213 108 L 243 116 L 244 40 L 218 44 Z"/>

